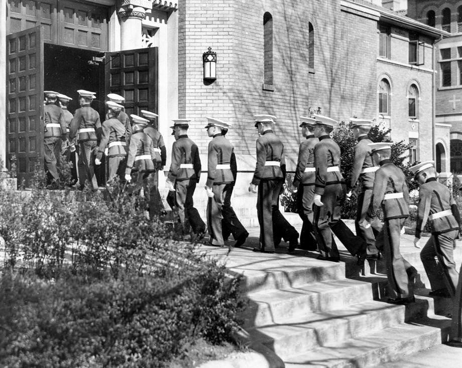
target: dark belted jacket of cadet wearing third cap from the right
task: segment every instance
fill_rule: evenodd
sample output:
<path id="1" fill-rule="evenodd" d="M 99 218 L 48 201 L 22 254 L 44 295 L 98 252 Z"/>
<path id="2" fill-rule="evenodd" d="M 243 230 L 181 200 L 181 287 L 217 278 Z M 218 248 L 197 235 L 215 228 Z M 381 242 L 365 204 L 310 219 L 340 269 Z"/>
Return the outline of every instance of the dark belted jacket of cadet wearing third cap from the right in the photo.
<path id="1" fill-rule="evenodd" d="M 353 162 L 352 176 L 348 182 L 348 187 L 353 188 L 360 179 L 363 190 L 372 189 L 374 187 L 375 171 L 368 171 L 369 167 L 375 167 L 372 161 L 371 147 L 368 145 L 372 141 L 365 136 L 358 138 L 358 144 L 355 147 L 355 161 Z"/>

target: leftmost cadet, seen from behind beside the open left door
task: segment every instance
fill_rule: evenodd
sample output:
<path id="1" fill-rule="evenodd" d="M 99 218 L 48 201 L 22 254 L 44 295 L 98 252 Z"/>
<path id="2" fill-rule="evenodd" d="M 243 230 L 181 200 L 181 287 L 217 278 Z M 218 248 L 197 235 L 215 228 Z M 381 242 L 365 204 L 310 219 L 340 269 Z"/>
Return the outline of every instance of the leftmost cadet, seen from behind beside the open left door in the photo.
<path id="1" fill-rule="evenodd" d="M 44 115 L 44 159 L 47 183 L 50 184 L 59 178 L 58 168 L 61 160 L 62 140 L 67 139 L 64 112 L 56 105 L 58 93 L 46 90 L 46 105 L 43 108 Z"/>

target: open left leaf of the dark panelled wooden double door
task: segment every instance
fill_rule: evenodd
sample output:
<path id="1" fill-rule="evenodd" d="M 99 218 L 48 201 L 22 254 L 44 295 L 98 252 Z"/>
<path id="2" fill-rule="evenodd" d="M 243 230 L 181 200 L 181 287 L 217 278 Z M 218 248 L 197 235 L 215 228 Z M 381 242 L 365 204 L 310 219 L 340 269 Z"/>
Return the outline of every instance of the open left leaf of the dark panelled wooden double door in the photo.
<path id="1" fill-rule="evenodd" d="M 7 157 L 18 178 L 28 179 L 43 162 L 43 29 L 7 36 Z"/>

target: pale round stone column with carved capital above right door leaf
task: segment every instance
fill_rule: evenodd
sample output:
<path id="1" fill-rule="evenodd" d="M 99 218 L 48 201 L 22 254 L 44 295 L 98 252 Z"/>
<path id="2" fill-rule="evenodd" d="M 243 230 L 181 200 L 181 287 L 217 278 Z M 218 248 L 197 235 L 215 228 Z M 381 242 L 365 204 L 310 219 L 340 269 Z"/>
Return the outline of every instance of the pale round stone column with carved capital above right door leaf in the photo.
<path id="1" fill-rule="evenodd" d="M 124 0 L 118 15 L 121 23 L 121 51 L 139 49 L 141 44 L 141 23 L 146 13 L 151 13 L 150 0 Z"/>

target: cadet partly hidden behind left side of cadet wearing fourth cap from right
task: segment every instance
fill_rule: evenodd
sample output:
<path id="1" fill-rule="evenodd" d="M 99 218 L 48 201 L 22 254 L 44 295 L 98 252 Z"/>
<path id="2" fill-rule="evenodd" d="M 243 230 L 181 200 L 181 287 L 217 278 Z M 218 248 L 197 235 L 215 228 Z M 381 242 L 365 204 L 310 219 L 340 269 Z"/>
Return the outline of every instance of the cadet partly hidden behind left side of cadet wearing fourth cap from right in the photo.
<path id="1" fill-rule="evenodd" d="M 316 177 L 314 146 L 319 143 L 319 139 L 313 134 L 316 121 L 304 116 L 301 116 L 300 120 L 300 128 L 302 128 L 302 136 L 305 140 L 300 143 L 298 149 L 297 169 L 293 181 L 293 186 L 297 188 L 297 211 L 303 220 L 300 248 L 316 250 L 316 236 L 313 228 L 313 196 Z"/>

